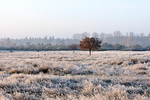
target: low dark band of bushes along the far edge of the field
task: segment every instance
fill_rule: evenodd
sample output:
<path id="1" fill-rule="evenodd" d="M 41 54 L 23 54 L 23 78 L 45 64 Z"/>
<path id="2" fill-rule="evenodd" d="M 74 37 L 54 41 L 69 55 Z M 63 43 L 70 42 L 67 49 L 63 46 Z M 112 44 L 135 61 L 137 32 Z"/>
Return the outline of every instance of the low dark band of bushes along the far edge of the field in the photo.
<path id="1" fill-rule="evenodd" d="M 32 44 L 32 45 L 22 45 L 22 46 L 10 46 L 10 47 L 0 47 L 0 50 L 19 50 L 19 51 L 57 51 L 57 50 L 66 50 L 70 51 L 73 50 L 69 48 L 70 45 L 50 45 L 50 44 Z M 80 50 L 79 47 L 77 47 L 74 50 Z M 126 47 L 124 45 L 120 44 L 108 44 L 104 43 L 102 44 L 99 51 L 108 51 L 108 50 L 119 50 L 119 51 L 150 51 L 150 46 L 142 47 L 140 45 L 134 45 L 130 47 Z"/>

